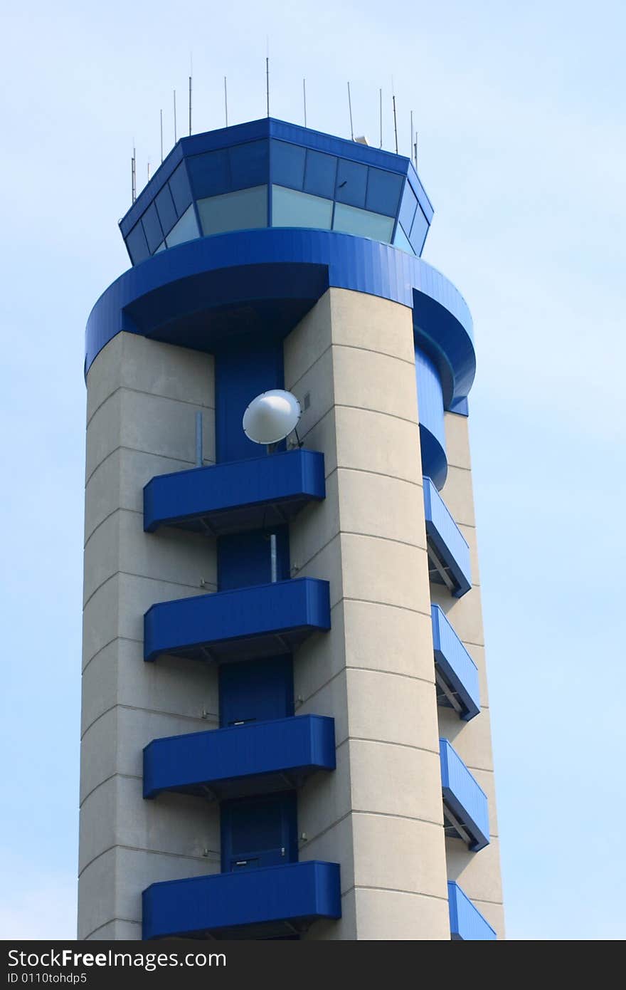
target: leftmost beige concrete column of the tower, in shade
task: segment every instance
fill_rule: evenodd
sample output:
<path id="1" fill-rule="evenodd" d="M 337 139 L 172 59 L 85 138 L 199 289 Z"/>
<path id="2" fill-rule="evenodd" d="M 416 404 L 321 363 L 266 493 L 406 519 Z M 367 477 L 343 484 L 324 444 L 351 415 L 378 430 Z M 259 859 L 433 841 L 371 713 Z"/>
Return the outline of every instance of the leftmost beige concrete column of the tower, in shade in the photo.
<path id="1" fill-rule="evenodd" d="M 198 411 L 211 463 L 210 355 L 121 333 L 89 370 L 80 939 L 140 939 L 144 887 L 220 869 L 218 809 L 183 795 L 144 801 L 141 790 L 146 743 L 218 726 L 215 669 L 143 662 L 150 605 L 216 586 L 212 541 L 143 533 L 143 485 L 194 466 Z"/>

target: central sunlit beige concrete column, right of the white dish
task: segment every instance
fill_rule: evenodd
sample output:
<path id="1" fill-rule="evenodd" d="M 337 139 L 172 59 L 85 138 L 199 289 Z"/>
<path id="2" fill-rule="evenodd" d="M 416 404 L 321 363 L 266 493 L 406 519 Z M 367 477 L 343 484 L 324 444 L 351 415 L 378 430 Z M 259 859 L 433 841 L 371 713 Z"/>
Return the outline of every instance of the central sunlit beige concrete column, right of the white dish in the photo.
<path id="1" fill-rule="evenodd" d="M 326 499 L 292 526 L 332 630 L 295 657 L 300 713 L 335 719 L 337 770 L 301 793 L 301 858 L 341 863 L 321 939 L 449 939 L 411 311 L 329 290 L 285 344 Z"/>

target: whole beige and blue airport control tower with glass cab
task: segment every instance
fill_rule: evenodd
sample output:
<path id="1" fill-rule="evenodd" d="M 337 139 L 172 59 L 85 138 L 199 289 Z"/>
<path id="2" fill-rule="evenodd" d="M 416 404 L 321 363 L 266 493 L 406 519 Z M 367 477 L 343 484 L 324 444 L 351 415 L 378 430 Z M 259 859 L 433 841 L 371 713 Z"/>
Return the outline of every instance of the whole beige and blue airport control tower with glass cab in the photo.
<path id="1" fill-rule="evenodd" d="M 472 319 L 402 155 L 181 139 L 86 334 L 80 939 L 503 938 Z M 286 389 L 297 432 L 250 441 Z"/>

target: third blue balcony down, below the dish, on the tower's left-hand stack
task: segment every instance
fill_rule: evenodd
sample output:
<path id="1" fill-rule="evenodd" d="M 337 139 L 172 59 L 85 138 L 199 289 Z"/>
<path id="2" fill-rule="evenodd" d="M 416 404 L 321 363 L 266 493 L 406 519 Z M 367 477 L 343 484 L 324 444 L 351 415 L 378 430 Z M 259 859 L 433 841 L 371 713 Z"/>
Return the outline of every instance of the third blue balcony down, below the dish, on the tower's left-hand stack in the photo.
<path id="1" fill-rule="evenodd" d="M 143 749 L 143 797 L 178 791 L 244 797 L 300 786 L 334 770 L 334 720 L 301 715 L 153 740 Z"/>

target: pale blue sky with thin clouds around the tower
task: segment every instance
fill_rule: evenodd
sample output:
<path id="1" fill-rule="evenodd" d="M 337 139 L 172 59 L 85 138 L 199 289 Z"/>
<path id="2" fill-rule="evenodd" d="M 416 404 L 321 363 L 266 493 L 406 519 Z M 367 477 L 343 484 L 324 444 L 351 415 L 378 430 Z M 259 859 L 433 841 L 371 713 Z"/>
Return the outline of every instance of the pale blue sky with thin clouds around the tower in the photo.
<path id="1" fill-rule="evenodd" d="M 423 256 L 474 317 L 470 398 L 508 938 L 626 936 L 620 0 L 163 0 L 0 15 L 0 938 L 75 936 L 89 311 L 179 136 L 271 114 L 409 153 Z M 621 783 L 620 783 L 621 781 Z"/>

